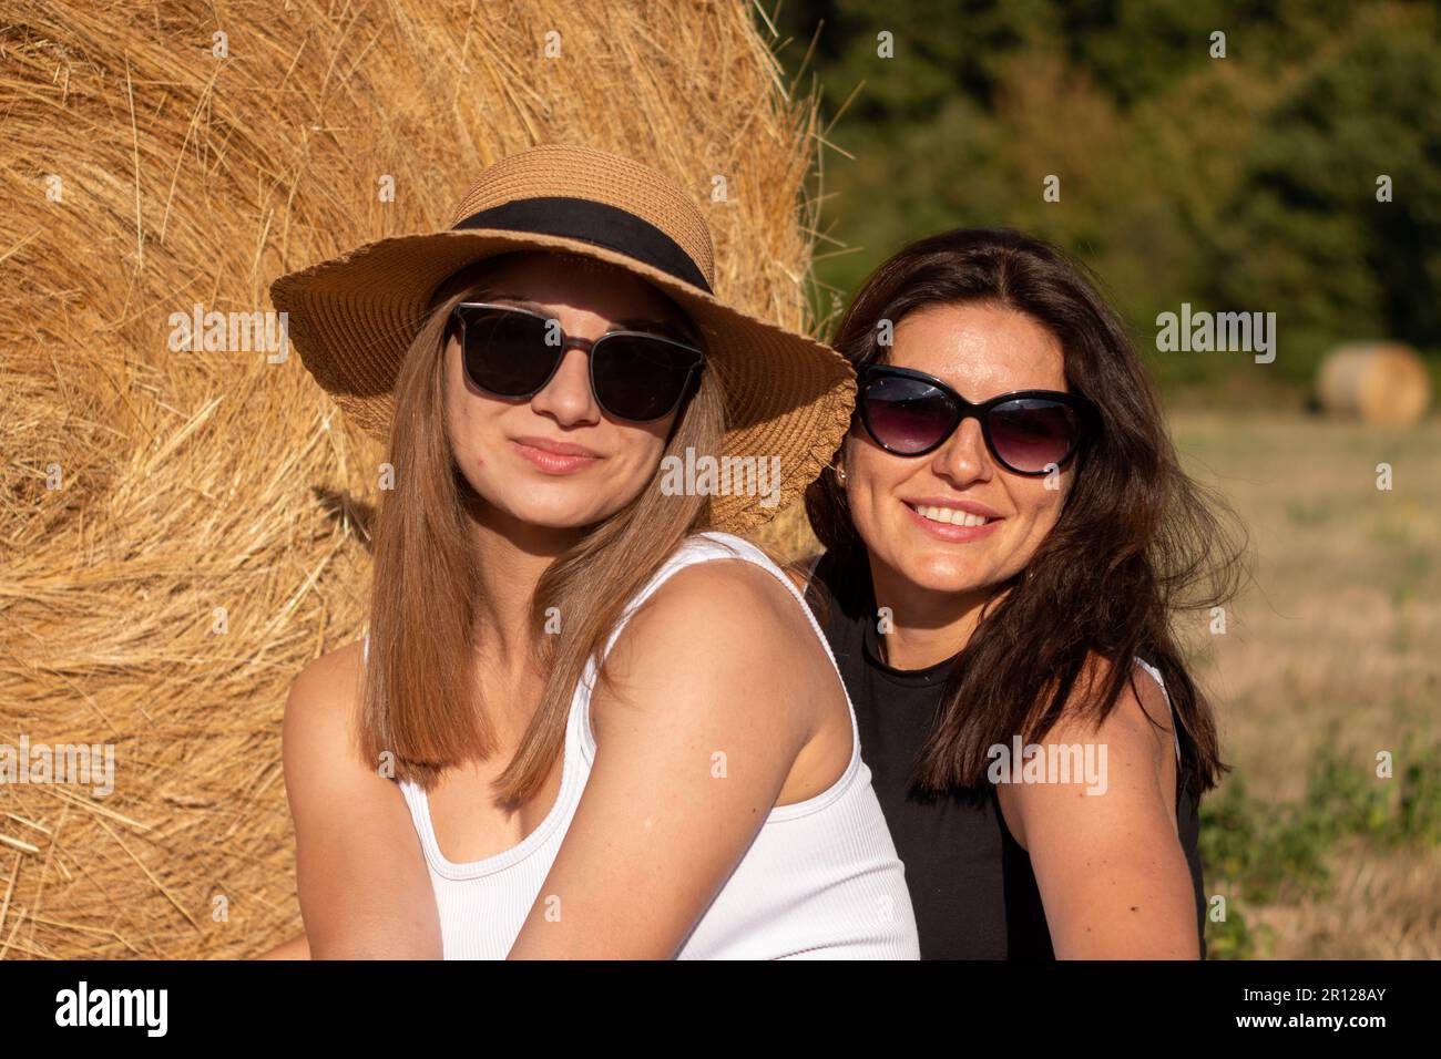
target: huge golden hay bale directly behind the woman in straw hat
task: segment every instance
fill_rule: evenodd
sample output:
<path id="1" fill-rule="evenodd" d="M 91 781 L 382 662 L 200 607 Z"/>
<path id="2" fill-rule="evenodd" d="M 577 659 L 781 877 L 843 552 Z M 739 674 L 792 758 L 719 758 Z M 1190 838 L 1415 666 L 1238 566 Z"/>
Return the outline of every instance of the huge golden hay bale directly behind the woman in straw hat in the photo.
<path id="1" fill-rule="evenodd" d="M 0 958 L 300 926 L 280 719 L 363 622 L 382 454 L 298 357 L 177 318 L 571 141 L 692 189 L 720 295 L 804 329 L 813 122 L 744 0 L 9 4 L 0 746 L 110 745 L 114 791 L 0 784 Z"/>

